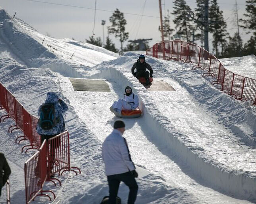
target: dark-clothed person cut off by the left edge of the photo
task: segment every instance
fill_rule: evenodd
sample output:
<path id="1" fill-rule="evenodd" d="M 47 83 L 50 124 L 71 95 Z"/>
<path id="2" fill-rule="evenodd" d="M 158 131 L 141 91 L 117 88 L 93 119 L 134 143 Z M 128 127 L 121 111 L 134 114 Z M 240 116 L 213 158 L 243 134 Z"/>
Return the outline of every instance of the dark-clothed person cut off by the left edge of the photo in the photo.
<path id="1" fill-rule="evenodd" d="M 0 197 L 1 197 L 2 187 L 8 180 L 10 174 L 11 174 L 10 166 L 6 158 L 4 157 L 4 154 L 0 153 Z"/>

